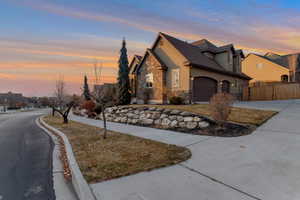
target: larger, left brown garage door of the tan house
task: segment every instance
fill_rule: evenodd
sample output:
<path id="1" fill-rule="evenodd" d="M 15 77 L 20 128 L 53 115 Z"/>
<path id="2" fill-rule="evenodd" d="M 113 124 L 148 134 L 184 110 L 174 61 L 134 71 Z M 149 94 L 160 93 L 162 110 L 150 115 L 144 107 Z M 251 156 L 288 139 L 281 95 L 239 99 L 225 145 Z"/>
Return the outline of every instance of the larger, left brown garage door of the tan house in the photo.
<path id="1" fill-rule="evenodd" d="M 209 101 L 217 93 L 218 82 L 208 77 L 196 77 L 193 81 L 193 101 Z"/>

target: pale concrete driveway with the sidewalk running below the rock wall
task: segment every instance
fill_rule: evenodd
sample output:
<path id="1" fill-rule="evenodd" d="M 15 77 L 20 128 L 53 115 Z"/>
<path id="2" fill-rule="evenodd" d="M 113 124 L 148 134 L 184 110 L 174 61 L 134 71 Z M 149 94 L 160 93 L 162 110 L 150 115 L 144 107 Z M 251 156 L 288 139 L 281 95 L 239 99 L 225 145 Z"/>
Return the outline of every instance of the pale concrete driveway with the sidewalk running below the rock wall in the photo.
<path id="1" fill-rule="evenodd" d="M 172 137 L 170 131 L 110 123 L 112 130 L 141 137 L 153 132 L 157 137 L 151 139 L 158 141 L 168 142 L 168 134 L 170 143 L 187 146 L 193 155 L 176 166 L 93 184 L 93 191 L 104 200 L 300 199 L 300 101 L 238 106 L 280 113 L 251 135 L 235 138 L 186 135 L 184 140 L 185 134 L 173 132 Z M 72 118 L 101 126 L 99 121 Z"/>

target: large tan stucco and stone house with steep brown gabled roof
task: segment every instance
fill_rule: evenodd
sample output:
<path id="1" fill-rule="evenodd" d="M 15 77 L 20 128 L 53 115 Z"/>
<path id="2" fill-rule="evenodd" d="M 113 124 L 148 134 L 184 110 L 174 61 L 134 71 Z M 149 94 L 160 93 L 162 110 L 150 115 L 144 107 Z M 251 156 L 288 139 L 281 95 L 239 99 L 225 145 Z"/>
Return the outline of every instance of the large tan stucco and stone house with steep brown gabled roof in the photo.
<path id="1" fill-rule="evenodd" d="M 218 91 L 241 98 L 251 79 L 241 72 L 243 58 L 232 44 L 217 47 L 205 39 L 188 43 L 159 33 L 139 64 L 132 60 L 130 76 L 141 103 L 145 91 L 150 91 L 149 103 L 168 103 L 175 95 L 189 103 L 209 101 Z"/>

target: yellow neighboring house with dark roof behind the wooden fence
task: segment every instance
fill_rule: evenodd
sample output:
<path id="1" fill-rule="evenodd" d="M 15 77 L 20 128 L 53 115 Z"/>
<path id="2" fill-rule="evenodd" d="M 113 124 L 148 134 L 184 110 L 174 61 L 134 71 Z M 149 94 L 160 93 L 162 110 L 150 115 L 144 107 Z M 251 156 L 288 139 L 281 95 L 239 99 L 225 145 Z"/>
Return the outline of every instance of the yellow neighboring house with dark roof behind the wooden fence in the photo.
<path id="1" fill-rule="evenodd" d="M 251 53 L 242 62 L 242 72 L 253 78 L 251 82 L 300 82 L 299 55 Z"/>

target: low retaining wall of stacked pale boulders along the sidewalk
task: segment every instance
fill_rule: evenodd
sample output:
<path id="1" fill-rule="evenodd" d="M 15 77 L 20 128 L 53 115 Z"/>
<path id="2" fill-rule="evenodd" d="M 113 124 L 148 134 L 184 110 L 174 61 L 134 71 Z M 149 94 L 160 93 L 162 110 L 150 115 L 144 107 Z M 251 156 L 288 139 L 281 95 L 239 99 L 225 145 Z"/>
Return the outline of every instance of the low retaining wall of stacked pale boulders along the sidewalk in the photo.
<path id="1" fill-rule="evenodd" d="M 112 122 L 187 131 L 207 129 L 215 124 L 212 120 L 194 113 L 146 106 L 110 107 L 106 109 L 105 116 L 107 121 Z M 96 119 L 102 120 L 102 114 Z"/>

